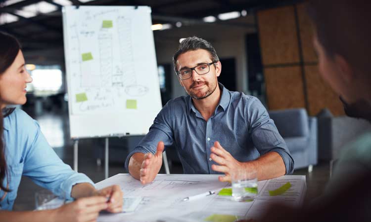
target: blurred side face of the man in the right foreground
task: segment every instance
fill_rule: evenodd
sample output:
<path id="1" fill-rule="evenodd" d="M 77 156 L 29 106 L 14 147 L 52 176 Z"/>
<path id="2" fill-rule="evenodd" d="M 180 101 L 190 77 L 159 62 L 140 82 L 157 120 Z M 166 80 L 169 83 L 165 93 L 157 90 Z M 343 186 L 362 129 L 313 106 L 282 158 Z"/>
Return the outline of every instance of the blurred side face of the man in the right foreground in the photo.
<path id="1" fill-rule="evenodd" d="M 340 95 L 345 114 L 371 121 L 371 105 L 360 96 L 355 84 L 347 84 L 344 81 L 344 75 L 342 76 L 340 72 L 346 71 L 340 70 L 337 62 L 325 53 L 324 47 L 316 36 L 314 37 L 314 47 L 318 54 L 320 74 L 330 84 L 331 88 Z M 355 96 L 357 94 L 358 97 Z"/>

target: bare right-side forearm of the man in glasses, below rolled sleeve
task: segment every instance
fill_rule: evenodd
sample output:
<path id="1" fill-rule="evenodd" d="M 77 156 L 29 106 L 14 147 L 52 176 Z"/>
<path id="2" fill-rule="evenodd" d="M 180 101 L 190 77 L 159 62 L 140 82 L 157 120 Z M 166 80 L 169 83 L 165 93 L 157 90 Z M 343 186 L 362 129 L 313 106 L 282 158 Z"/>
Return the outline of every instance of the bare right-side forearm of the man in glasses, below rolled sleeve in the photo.
<path id="1" fill-rule="evenodd" d="M 277 178 L 286 173 L 286 167 L 282 157 L 275 151 L 267 152 L 258 159 L 245 162 L 246 170 L 255 169 L 258 180 Z"/>

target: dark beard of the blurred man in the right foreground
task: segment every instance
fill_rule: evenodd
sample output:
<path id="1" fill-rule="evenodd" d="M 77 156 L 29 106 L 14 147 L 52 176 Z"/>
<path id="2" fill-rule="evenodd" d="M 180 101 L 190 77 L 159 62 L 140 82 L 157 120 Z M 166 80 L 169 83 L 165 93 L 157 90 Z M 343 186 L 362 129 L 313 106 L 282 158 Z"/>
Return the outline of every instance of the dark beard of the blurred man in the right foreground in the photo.
<path id="1" fill-rule="evenodd" d="M 342 96 L 340 101 L 343 103 L 344 111 L 347 116 L 366 119 L 371 122 L 371 104 L 361 99 L 354 103 L 348 104 Z"/>

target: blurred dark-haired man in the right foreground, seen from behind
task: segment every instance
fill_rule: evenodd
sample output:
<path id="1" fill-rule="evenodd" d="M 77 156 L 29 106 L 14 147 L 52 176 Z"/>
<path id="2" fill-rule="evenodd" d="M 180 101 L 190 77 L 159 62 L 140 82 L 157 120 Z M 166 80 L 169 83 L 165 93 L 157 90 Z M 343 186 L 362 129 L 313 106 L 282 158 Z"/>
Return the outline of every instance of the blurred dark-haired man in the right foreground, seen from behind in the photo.
<path id="1" fill-rule="evenodd" d="M 371 121 L 371 1 L 310 0 L 319 71 L 347 115 Z M 322 196 L 304 209 L 272 206 L 261 222 L 370 222 L 371 132 L 342 149 Z"/>

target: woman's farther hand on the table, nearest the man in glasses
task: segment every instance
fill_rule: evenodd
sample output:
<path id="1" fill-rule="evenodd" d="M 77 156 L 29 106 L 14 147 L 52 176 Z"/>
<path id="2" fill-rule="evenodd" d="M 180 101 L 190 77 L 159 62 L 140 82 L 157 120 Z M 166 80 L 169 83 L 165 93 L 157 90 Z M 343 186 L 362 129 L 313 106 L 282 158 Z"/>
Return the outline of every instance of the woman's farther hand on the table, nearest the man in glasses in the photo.
<path id="1" fill-rule="evenodd" d="M 119 185 L 107 186 L 103 189 L 97 190 L 94 195 L 109 198 L 107 201 L 108 207 L 106 211 L 111 213 L 122 212 L 123 192 Z"/>

